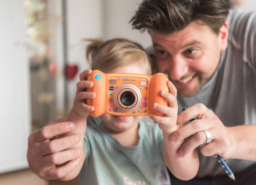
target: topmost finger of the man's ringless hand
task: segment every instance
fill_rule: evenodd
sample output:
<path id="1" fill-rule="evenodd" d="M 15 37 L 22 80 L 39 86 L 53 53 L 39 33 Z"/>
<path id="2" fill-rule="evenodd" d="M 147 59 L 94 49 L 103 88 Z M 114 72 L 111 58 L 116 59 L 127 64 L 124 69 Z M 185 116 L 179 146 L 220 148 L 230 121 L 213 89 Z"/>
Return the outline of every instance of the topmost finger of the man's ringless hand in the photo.
<path id="1" fill-rule="evenodd" d="M 57 135 L 69 133 L 71 130 L 74 130 L 74 127 L 75 125 L 73 122 L 60 122 L 54 125 L 44 126 L 31 135 L 34 142 L 40 143 Z"/>

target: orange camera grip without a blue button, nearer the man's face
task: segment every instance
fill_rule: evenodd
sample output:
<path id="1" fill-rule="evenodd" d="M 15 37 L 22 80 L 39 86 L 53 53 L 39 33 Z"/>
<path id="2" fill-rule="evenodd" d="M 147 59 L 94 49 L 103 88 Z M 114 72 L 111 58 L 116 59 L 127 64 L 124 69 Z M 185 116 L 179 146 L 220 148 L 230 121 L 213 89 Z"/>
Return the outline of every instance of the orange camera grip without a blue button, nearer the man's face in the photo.
<path id="1" fill-rule="evenodd" d="M 154 103 L 158 103 L 163 106 L 167 106 L 167 101 L 160 95 L 161 90 L 166 90 L 169 92 L 167 87 L 168 77 L 165 74 L 158 73 L 152 76 L 150 81 L 150 106 L 149 106 L 149 114 L 155 114 L 158 116 L 163 116 L 163 113 L 155 110 L 153 108 Z"/>

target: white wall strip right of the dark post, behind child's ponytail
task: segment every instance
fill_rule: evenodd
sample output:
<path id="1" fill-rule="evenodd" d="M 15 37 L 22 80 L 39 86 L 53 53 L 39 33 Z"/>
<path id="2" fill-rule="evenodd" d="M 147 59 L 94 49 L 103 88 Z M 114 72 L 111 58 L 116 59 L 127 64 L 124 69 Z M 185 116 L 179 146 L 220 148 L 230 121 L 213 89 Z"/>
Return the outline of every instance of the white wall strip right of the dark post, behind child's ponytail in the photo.
<path id="1" fill-rule="evenodd" d="M 68 61 L 79 66 L 79 72 L 88 68 L 85 61 L 85 43 L 82 39 L 103 36 L 103 0 L 67 1 Z M 73 104 L 79 75 L 69 82 L 69 107 Z"/>

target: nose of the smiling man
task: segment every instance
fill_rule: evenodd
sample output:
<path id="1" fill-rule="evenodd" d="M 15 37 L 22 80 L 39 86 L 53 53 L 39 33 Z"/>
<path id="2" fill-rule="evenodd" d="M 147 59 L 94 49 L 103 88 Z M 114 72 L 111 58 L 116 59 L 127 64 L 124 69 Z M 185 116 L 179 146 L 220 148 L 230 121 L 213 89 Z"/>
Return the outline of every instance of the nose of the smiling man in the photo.
<path id="1" fill-rule="evenodd" d="M 168 71 L 172 80 L 182 79 L 182 76 L 185 76 L 188 71 L 186 60 L 183 58 L 173 58 L 169 65 Z"/>

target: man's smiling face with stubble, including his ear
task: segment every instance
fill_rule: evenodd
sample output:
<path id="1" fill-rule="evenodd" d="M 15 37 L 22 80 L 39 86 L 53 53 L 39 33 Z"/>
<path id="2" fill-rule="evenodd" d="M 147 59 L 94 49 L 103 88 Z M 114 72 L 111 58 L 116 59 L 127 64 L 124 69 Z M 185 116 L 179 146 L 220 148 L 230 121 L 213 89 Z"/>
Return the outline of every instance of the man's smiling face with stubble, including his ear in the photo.
<path id="1" fill-rule="evenodd" d="M 220 53 L 227 47 L 228 24 L 217 35 L 198 22 L 174 34 L 150 34 L 158 69 L 169 75 L 179 94 L 193 96 L 218 66 Z"/>

